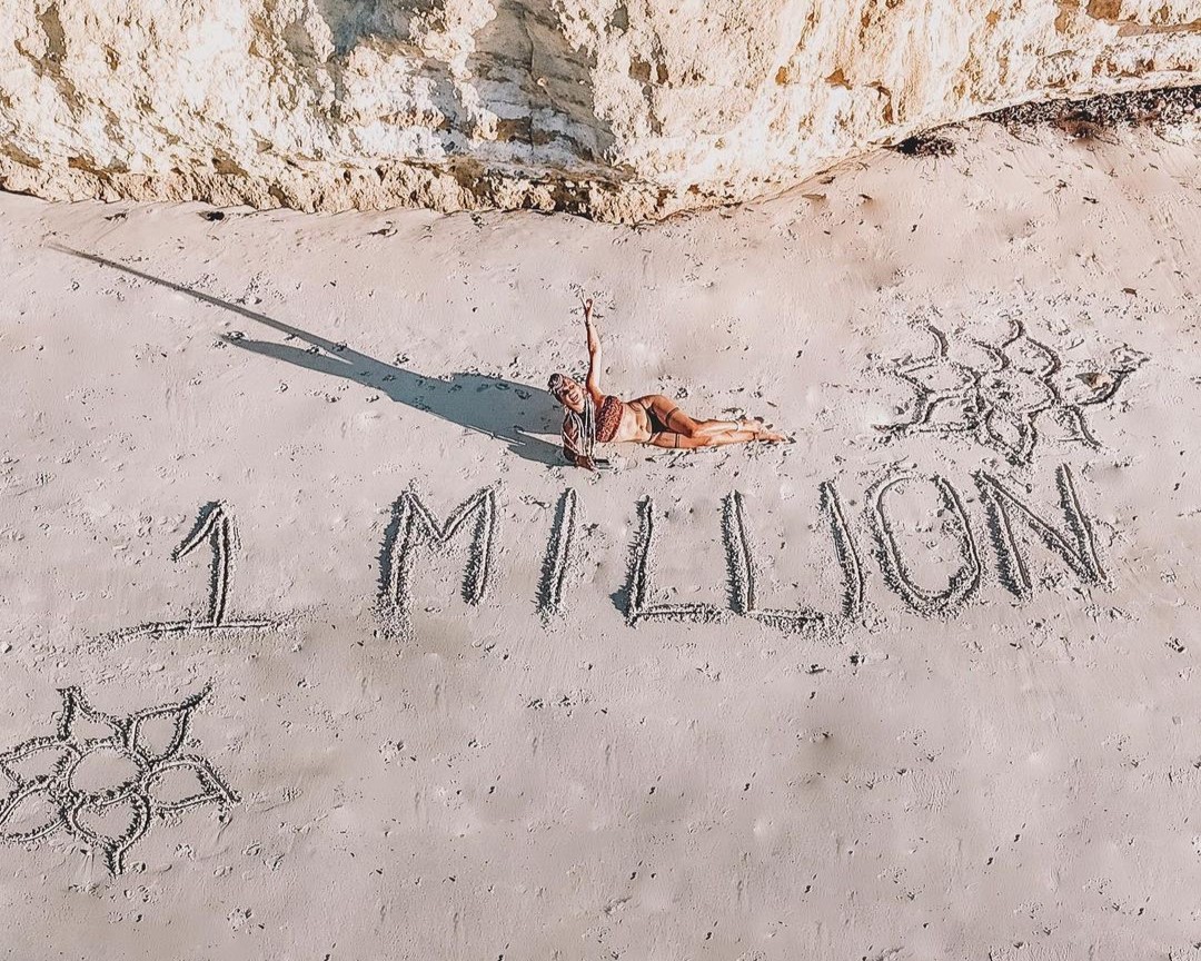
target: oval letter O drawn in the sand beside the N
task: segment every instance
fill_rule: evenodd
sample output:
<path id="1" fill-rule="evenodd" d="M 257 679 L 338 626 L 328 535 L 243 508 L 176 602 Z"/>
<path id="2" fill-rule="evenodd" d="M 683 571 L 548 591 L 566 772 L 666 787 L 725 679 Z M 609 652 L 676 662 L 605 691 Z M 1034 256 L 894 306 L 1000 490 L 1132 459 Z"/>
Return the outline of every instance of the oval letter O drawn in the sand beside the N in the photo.
<path id="1" fill-rule="evenodd" d="M 963 555 L 963 565 L 950 577 L 946 587 L 940 591 L 922 587 L 913 579 L 908 565 L 901 556 L 895 526 L 888 508 L 889 495 L 902 484 L 926 479 L 934 485 L 943 508 L 954 518 L 954 524 L 958 527 L 960 553 Z M 944 615 L 975 593 L 980 586 L 982 569 L 980 553 L 976 550 L 975 538 L 972 536 L 972 527 L 968 524 L 967 512 L 960 502 L 960 495 L 949 480 L 938 474 L 930 478 L 912 473 L 889 477 L 872 490 L 870 502 L 876 537 L 880 547 L 879 561 L 884 580 L 909 607 L 926 616 Z"/>

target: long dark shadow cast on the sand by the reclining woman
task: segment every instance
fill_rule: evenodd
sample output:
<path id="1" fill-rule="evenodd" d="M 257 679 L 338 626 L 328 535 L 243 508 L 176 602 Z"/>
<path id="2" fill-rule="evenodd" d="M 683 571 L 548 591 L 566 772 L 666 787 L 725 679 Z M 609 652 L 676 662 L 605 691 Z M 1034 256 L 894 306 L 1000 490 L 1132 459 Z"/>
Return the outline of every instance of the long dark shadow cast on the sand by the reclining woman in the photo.
<path id="1" fill-rule="evenodd" d="M 538 431 L 557 432 L 555 417 L 557 402 L 549 392 L 528 384 L 492 377 L 486 374 L 459 372 L 449 377 L 431 377 L 407 370 L 399 364 L 388 364 L 365 353 L 336 344 L 299 327 L 276 321 L 265 314 L 232 304 L 219 297 L 193 291 L 169 280 L 136 270 L 116 261 L 95 253 L 85 253 L 59 244 L 53 249 L 85 261 L 121 270 L 142 280 L 159 283 L 205 304 L 240 314 L 256 323 L 283 334 L 285 341 L 300 341 L 306 347 L 291 342 L 276 344 L 268 340 L 251 340 L 245 335 L 222 335 L 222 340 L 234 347 L 287 364 L 343 377 L 405 404 L 449 420 L 453 424 L 494 437 L 506 444 L 518 456 L 538 464 L 562 465 L 563 456 L 557 444 L 549 443 L 527 432 L 522 425 Z"/>

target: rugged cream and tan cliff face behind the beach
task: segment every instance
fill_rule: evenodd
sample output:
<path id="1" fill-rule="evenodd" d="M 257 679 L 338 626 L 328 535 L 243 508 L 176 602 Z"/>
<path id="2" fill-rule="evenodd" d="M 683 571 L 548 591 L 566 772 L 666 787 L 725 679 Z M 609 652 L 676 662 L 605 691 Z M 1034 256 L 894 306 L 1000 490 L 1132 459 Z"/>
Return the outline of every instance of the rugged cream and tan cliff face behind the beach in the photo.
<path id="1" fill-rule="evenodd" d="M 1199 82 L 1201 0 L 0 0 L 0 186 L 631 221 Z"/>

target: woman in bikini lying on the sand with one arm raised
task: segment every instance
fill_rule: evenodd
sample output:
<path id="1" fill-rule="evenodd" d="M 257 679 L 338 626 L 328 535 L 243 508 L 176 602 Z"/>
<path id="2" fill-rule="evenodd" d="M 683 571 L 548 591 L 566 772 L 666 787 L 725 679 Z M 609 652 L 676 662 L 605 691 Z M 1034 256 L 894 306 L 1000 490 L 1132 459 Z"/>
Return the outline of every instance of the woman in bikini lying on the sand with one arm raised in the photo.
<path id="1" fill-rule="evenodd" d="M 663 394 L 647 394 L 628 402 L 600 393 L 600 339 L 592 323 L 592 302 L 584 302 L 584 328 L 588 336 L 588 376 L 581 387 L 563 374 L 552 374 L 550 393 L 563 405 L 563 454 L 578 467 L 596 470 L 592 448 L 600 443 L 631 441 L 693 450 L 728 443 L 787 441 L 753 420 L 694 420 Z"/>

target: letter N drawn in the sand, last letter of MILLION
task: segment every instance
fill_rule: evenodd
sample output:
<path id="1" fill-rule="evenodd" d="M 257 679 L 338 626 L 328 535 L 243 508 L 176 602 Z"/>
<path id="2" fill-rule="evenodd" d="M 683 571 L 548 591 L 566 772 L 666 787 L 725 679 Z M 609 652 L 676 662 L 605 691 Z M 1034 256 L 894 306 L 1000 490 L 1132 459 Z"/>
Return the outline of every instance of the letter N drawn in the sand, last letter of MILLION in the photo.
<path id="1" fill-rule="evenodd" d="M 1105 584 L 1105 572 L 1097 555 L 1093 527 L 1080 506 L 1076 483 L 1066 464 L 1056 471 L 1059 503 L 1068 523 L 1066 536 L 1040 518 L 1034 509 L 1018 499 L 1012 490 L 985 471 L 975 476 L 980 499 L 988 511 L 988 526 L 1000 561 L 1000 578 L 1017 597 L 1027 597 L 1033 587 L 1029 568 L 1014 531 L 1014 521 L 1022 520 L 1036 533 L 1044 544 L 1058 554 L 1076 577 L 1085 584 Z M 1075 543 L 1069 543 L 1071 538 Z"/>

